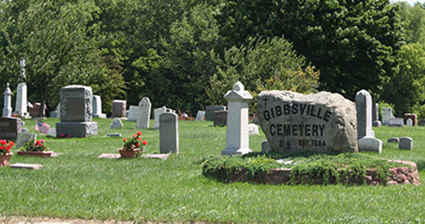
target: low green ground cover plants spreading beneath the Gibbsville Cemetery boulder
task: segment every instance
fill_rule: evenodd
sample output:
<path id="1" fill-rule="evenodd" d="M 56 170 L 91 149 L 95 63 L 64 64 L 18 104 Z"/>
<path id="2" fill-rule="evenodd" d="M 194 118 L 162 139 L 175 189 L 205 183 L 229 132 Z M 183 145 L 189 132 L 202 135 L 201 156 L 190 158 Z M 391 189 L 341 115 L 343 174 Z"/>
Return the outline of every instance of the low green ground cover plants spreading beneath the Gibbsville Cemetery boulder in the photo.
<path id="1" fill-rule="evenodd" d="M 263 177 L 270 173 L 269 169 L 291 168 L 293 172 L 290 184 L 297 184 L 295 177 L 300 177 L 300 184 L 313 184 L 314 177 L 322 178 L 324 184 L 330 184 L 331 177 L 335 177 L 336 183 L 340 182 L 341 177 L 348 177 L 362 179 L 365 184 L 367 169 L 372 168 L 376 169 L 380 182 L 386 183 L 387 177 L 391 175 L 390 168 L 406 166 L 360 153 L 332 155 L 312 151 L 287 154 L 252 152 L 233 157 L 215 156 L 206 158 L 202 163 L 203 175 L 218 181 L 230 181 L 233 174 L 246 171 L 246 181 L 259 178 L 264 182 Z"/>

